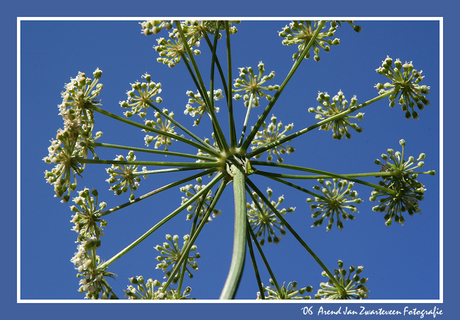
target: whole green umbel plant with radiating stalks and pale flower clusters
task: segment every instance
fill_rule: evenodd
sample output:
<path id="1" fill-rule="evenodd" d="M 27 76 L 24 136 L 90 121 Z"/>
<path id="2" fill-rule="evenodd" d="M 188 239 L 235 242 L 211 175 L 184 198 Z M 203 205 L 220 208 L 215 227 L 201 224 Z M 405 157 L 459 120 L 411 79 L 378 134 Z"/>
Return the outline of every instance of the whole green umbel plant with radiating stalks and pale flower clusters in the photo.
<path id="1" fill-rule="evenodd" d="M 387 225 L 392 221 L 402 224 L 405 221 L 403 217 L 405 212 L 409 215 L 420 212 L 419 202 L 423 200 L 425 188 L 417 181 L 417 177 L 420 174 L 433 175 L 434 171 L 414 171 L 423 167 L 424 163 L 421 160 L 425 155 L 421 154 L 417 160 L 412 156 L 405 157 L 404 140 L 400 141 L 402 151 L 394 152 L 388 149 L 388 155 L 382 155 L 386 163 L 377 160 L 376 164 L 381 166 L 381 170 L 371 173 L 336 174 L 285 164 L 284 157 L 295 152 L 288 143 L 314 129 L 331 131 L 334 139 L 344 137 L 350 139 L 350 128 L 358 133 L 362 131 L 356 122 L 353 122 L 363 119 L 363 113 L 358 110 L 384 98 L 389 99 L 390 107 L 394 107 L 397 101 L 406 118 L 417 119 L 419 115 L 415 108 L 423 110 L 429 104 L 426 99 L 429 87 L 419 84 L 423 79 L 421 72 L 415 70 L 411 63 L 402 64 L 399 60 L 393 62 L 393 59 L 387 57 L 377 72 L 386 76 L 390 82 L 376 85 L 379 91 L 375 98 L 359 104 L 356 97 L 350 101 L 346 100 L 342 91 L 333 97 L 320 92 L 316 99 L 319 106 L 308 110 L 316 114 L 315 118 L 318 122 L 294 131 L 293 124 L 283 125 L 277 117 L 271 115 L 278 98 L 300 64 L 309 58 L 311 52 L 314 53 L 314 60 L 319 61 L 321 50 L 328 52 L 330 46 L 340 43 L 337 38 L 332 38 L 342 23 L 351 25 L 358 32 L 359 26 L 352 21 L 293 21 L 279 33 L 284 45 L 297 45 L 298 51 L 293 55 L 292 68 L 280 85 L 269 85 L 275 73 L 264 75 L 265 66 L 262 62 L 258 64 L 257 71 L 251 67 L 240 68 L 238 78 L 233 79 L 231 35 L 237 32 L 236 27 L 232 26 L 237 23 L 238 21 L 146 21 L 142 23 L 143 32 L 147 35 L 156 34 L 162 29 L 169 31 L 168 40 L 164 38 L 157 40 L 158 45 L 155 50 L 159 53 L 158 61 L 169 67 L 185 65 L 195 85 L 193 90 L 187 91 L 189 99 L 185 113 L 195 118 L 194 126 L 201 125 L 209 117 L 212 142 L 200 138 L 191 129 L 176 121 L 174 112 L 158 107 L 158 104 L 163 102 L 159 97 L 162 86 L 152 81 L 152 77 L 147 73 L 142 76 L 142 82 L 137 81 L 131 85 L 131 89 L 127 92 L 127 99 L 120 103 L 120 106 L 127 110 L 124 112 L 125 117 L 101 108 L 97 100 L 102 89 L 102 84 L 99 83 L 101 70 L 97 69 L 93 73 L 93 79 L 84 73 L 79 73 L 65 86 L 65 91 L 62 93 L 63 102 L 60 105 L 64 129 L 58 131 L 56 139 L 49 147 L 49 155 L 44 159 L 50 164 L 55 164 L 51 171 L 45 173 L 48 183 L 54 186 L 55 195 L 63 202 L 69 202 L 72 192 L 77 188 L 78 177 L 83 174 L 86 164 L 110 165 L 107 168 L 110 190 L 118 196 L 128 192 L 130 194 L 128 202 L 110 209 L 106 209 L 104 202 L 98 202 L 98 193 L 95 189 L 90 191 L 85 188 L 72 199 L 75 203 L 71 207 L 75 213 L 72 221 L 75 224 L 74 231 L 78 234 L 79 243 L 78 252 L 72 261 L 79 272 L 79 277 L 82 278 L 80 291 L 86 292 L 86 297 L 117 298 L 106 281 L 107 277 L 114 276 L 107 271 L 109 265 L 152 233 L 157 232 L 173 217 L 187 211 L 189 212 L 187 219 L 191 221 L 191 227 L 189 234 L 183 237 L 183 245 L 180 246 L 178 243 L 179 236 L 167 235 L 166 239 L 169 243 L 156 246 L 160 252 L 157 269 L 165 273 L 167 280 L 160 284 L 159 281 L 152 279 L 145 282 L 141 276 L 130 278 L 132 285 L 128 286 L 125 295 L 133 299 L 188 298 L 191 289 L 190 287 L 184 289 L 185 275 L 193 276 L 193 272 L 197 270 L 196 259 L 200 257 L 195 253 L 194 242 L 204 226 L 219 215 L 220 211 L 216 205 L 224 189 L 231 184 L 235 197 L 234 251 L 230 272 L 222 290 L 222 299 L 235 297 L 247 250 L 259 286 L 258 298 L 310 298 L 303 296 L 306 292 L 312 291 L 310 286 L 298 290 L 296 282 L 280 286 L 262 250 L 265 243 L 278 243 L 281 235 L 287 232 L 298 240 L 324 270 L 323 275 L 328 278 L 327 283 L 321 284 L 321 289 L 315 298 L 366 298 L 367 279 L 358 276 L 362 272 L 362 267 L 351 266 L 349 276 L 345 279 L 346 270 L 342 269 L 343 263 L 339 260 L 339 269 L 334 273 L 331 272 L 289 224 L 289 219 L 284 217 L 285 213 L 294 211 L 294 208 L 278 208 L 284 198 L 279 197 L 278 202 L 272 200 L 271 189 L 267 189 L 266 196 L 253 182 L 251 175 L 267 177 L 306 193 L 307 202 L 310 203 L 313 211 L 312 217 L 317 219 L 313 222 L 313 226 L 319 226 L 324 219 L 327 219 L 327 230 L 331 230 L 334 223 L 342 229 L 344 227 L 342 220 L 354 219 L 353 213 L 357 212 L 356 204 L 362 201 L 353 190 L 355 184 L 366 185 L 373 189 L 370 200 L 379 201 L 373 209 L 385 212 Z M 329 28 L 326 28 L 326 25 Z M 225 41 L 227 51 L 226 71 L 224 71 L 222 58 L 217 55 L 220 39 Z M 195 56 L 201 53 L 198 49 L 201 47 L 201 42 L 207 44 L 212 57 L 209 84 L 205 84 L 195 59 Z M 222 88 L 217 89 L 219 81 Z M 234 103 L 236 104 L 240 99 L 243 99 L 242 104 L 247 111 L 241 124 L 241 133 L 237 134 Z M 228 111 L 228 135 L 224 134 L 223 126 L 216 115 L 222 112 L 222 108 L 216 106 L 216 101 L 220 100 L 226 103 Z M 250 124 L 250 113 L 261 106 L 262 101 L 266 101 L 265 108 L 257 122 Z M 151 112 L 153 112 L 153 120 L 146 118 Z M 95 113 L 143 130 L 146 133 L 145 144 L 150 148 L 96 142 L 102 133 L 93 133 Z M 135 115 L 144 119 L 144 122 L 131 120 L 130 118 Z M 176 143 L 186 144 L 194 148 L 196 153 L 170 150 Z M 127 156 L 117 155 L 114 160 L 100 159 L 95 153 L 98 148 L 125 150 Z M 179 157 L 181 161 L 138 161 L 136 153 Z M 267 161 L 257 160 L 264 153 L 268 154 Z M 88 157 L 90 154 L 93 155 L 92 159 Z M 276 162 L 272 162 L 274 158 Z M 156 167 L 160 169 L 152 169 Z M 276 173 L 270 169 L 288 169 L 296 171 L 297 174 Z M 159 173 L 189 171 L 193 174 L 186 178 L 166 184 L 144 195 L 135 196 L 142 178 Z M 382 180 L 378 184 L 362 180 L 367 177 L 380 177 Z M 203 179 L 206 178 L 209 178 L 209 181 L 203 184 Z M 314 186 L 313 190 L 308 190 L 289 182 L 290 179 L 314 179 L 318 185 Z M 198 184 L 191 184 L 193 181 Z M 106 225 L 103 217 L 174 187 L 180 187 L 184 193 L 177 209 L 111 259 L 102 261 L 97 256 L 96 249 L 101 245 L 103 235 L 102 227 Z M 263 287 L 256 263 L 256 253 L 260 255 L 270 273 L 272 285 L 270 287 Z M 350 279 L 350 274 L 355 270 L 355 275 Z"/>

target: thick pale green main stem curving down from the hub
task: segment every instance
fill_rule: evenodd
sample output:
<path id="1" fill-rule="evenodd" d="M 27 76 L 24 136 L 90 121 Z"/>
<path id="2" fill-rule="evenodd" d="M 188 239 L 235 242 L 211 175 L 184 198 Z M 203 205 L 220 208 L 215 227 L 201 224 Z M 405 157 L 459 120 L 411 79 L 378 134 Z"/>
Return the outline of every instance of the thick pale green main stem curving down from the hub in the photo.
<path id="1" fill-rule="evenodd" d="M 234 299 L 243 275 L 246 256 L 246 189 L 245 173 L 240 166 L 231 165 L 233 175 L 233 193 L 235 196 L 235 232 L 230 271 L 225 281 L 220 299 Z"/>

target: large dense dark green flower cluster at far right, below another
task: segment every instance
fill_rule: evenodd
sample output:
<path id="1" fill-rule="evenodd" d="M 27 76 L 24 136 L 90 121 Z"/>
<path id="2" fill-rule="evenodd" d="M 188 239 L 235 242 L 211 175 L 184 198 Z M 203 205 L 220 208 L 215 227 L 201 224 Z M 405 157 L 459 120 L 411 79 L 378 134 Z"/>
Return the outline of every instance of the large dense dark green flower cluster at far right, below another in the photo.
<path id="1" fill-rule="evenodd" d="M 418 174 L 414 169 L 421 168 L 425 164 L 422 160 L 425 159 L 425 154 L 421 153 L 417 160 L 413 156 L 404 160 L 404 147 L 406 142 L 401 139 L 399 144 L 402 146 L 402 152 L 393 149 L 388 149 L 387 154 L 382 154 L 382 163 L 379 159 L 375 160 L 377 165 L 382 166 L 383 172 L 391 173 L 391 175 L 383 176 L 379 185 L 382 189 L 375 188 L 371 193 L 370 201 L 375 201 L 379 198 L 379 204 L 374 206 L 372 210 L 376 212 L 385 212 L 385 224 L 391 225 L 392 220 L 404 224 L 405 219 L 403 212 L 408 212 L 412 216 L 415 212 L 420 212 L 419 201 L 423 200 L 425 193 L 424 185 L 416 179 Z M 434 170 L 428 172 L 434 175 Z"/>

